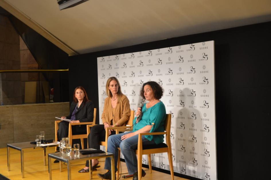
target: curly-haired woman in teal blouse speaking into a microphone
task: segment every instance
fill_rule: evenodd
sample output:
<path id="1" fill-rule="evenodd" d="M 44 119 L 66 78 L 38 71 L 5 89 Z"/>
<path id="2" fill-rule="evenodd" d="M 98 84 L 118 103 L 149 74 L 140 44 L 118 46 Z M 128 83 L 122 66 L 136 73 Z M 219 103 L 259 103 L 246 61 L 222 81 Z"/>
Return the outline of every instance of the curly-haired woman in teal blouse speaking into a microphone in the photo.
<path id="1" fill-rule="evenodd" d="M 143 84 L 141 97 L 149 101 L 143 105 L 142 111 L 137 109 L 136 117 L 133 120 L 133 131 L 117 135 L 111 135 L 107 142 L 107 152 L 114 153 L 115 162 L 118 159 L 118 147 L 124 156 L 129 174 L 133 174 L 133 180 L 138 179 L 137 156 L 134 149 L 137 149 L 138 134 L 149 132 L 164 132 L 166 117 L 165 105 L 159 100 L 163 96 L 163 88 L 154 81 Z M 137 118 L 139 116 L 139 118 Z M 164 141 L 163 135 L 142 136 L 142 144 L 159 144 Z M 106 158 L 104 169 L 109 170 L 105 174 L 98 174 L 102 179 L 111 179 L 111 160 Z M 117 163 L 115 163 L 117 170 Z M 146 175 L 142 170 L 142 176 Z"/>

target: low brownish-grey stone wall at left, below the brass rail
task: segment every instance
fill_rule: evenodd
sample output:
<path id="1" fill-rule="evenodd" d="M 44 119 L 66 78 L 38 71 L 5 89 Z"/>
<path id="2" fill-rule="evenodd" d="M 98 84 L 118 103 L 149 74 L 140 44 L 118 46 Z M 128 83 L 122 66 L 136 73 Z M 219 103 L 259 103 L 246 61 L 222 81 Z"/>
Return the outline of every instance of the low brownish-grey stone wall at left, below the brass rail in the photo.
<path id="1" fill-rule="evenodd" d="M 45 139 L 54 139 L 55 117 L 67 115 L 69 102 L 0 106 L 0 147 L 34 141 L 40 131 Z"/>

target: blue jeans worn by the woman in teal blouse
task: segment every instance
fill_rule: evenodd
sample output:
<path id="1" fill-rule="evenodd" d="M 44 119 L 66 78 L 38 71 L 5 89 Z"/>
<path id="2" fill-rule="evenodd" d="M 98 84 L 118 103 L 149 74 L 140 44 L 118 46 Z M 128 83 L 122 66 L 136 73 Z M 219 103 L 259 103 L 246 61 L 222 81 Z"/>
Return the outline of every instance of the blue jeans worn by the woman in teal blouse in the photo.
<path id="1" fill-rule="evenodd" d="M 125 159 L 128 173 L 134 174 L 135 172 L 137 172 L 137 156 L 134 152 L 134 149 L 137 149 L 138 135 L 134 135 L 123 141 L 120 140 L 121 136 L 128 133 L 132 133 L 132 131 L 109 136 L 107 140 L 107 152 L 114 154 L 115 171 L 116 171 L 117 161 L 118 161 L 118 147 L 120 147 L 120 151 L 123 154 L 124 159 Z M 145 136 L 142 136 L 142 145 L 147 145 L 147 144 L 155 144 L 155 142 L 153 140 L 149 141 L 148 139 L 145 138 Z M 110 157 L 106 158 L 104 169 L 111 170 Z"/>

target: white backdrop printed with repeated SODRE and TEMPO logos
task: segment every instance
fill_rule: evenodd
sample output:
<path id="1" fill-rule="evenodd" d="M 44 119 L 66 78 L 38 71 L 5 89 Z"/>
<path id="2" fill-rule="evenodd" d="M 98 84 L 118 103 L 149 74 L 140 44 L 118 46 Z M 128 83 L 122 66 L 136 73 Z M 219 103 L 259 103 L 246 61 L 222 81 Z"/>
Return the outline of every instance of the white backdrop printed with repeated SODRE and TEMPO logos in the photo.
<path id="1" fill-rule="evenodd" d="M 214 41 L 110 55 L 97 60 L 100 117 L 109 77 L 118 78 L 122 93 L 134 110 L 142 101 L 139 92 L 143 83 L 156 81 L 164 88 L 161 101 L 172 117 L 170 158 L 174 172 L 199 179 L 217 179 Z M 151 164 L 169 170 L 167 158 L 167 153 L 153 154 Z M 142 163 L 149 163 L 147 156 L 143 156 Z"/>

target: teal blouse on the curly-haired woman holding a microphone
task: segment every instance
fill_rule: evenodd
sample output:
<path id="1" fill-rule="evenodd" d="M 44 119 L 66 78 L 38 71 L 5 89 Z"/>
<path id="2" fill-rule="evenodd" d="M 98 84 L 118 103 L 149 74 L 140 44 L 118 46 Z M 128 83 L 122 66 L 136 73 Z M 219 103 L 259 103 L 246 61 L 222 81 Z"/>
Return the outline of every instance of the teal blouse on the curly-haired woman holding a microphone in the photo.
<path id="1" fill-rule="evenodd" d="M 137 131 L 146 125 L 153 125 L 150 130 L 150 133 L 153 132 L 164 132 L 165 131 L 165 117 L 166 117 L 166 110 L 165 105 L 162 101 L 155 104 L 154 106 L 150 107 L 149 109 L 146 108 L 146 104 L 142 107 L 142 117 L 138 123 L 136 123 L 137 117 L 133 120 L 133 131 Z M 149 141 L 154 140 L 156 144 L 163 143 L 164 135 L 146 135 L 146 139 Z"/>

